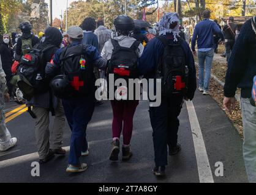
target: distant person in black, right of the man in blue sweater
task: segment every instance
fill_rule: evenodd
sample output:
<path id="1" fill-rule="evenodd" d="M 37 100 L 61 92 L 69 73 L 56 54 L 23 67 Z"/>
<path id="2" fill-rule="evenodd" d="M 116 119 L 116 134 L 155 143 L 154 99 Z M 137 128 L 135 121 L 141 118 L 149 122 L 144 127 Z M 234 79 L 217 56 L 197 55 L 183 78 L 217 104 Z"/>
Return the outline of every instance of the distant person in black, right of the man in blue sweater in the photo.
<path id="1" fill-rule="evenodd" d="M 223 33 L 225 36 L 225 49 L 228 62 L 235 44 L 236 35 L 238 35 L 238 26 L 234 23 L 233 16 L 229 17 L 227 24 L 223 27 Z"/>

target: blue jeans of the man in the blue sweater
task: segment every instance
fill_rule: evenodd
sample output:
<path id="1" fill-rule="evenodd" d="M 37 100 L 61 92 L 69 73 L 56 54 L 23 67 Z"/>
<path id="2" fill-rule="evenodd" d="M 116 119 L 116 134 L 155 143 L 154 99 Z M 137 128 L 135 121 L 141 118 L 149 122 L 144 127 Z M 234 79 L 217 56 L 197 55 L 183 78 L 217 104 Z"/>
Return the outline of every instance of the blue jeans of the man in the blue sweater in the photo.
<path id="1" fill-rule="evenodd" d="M 209 90 L 209 81 L 211 79 L 211 65 L 213 63 L 214 49 L 207 52 L 198 51 L 199 63 L 199 87 L 203 90 Z M 204 75 L 205 72 L 205 75 Z"/>

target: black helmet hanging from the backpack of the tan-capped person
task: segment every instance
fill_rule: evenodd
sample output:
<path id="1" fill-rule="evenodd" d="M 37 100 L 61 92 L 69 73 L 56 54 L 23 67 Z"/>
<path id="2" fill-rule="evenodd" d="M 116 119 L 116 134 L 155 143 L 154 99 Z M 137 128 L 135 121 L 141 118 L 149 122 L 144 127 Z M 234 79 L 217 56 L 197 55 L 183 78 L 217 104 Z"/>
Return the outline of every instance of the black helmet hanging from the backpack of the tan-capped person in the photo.
<path id="1" fill-rule="evenodd" d="M 65 75 L 58 75 L 51 80 L 50 87 L 57 98 L 71 98 L 73 88 Z"/>

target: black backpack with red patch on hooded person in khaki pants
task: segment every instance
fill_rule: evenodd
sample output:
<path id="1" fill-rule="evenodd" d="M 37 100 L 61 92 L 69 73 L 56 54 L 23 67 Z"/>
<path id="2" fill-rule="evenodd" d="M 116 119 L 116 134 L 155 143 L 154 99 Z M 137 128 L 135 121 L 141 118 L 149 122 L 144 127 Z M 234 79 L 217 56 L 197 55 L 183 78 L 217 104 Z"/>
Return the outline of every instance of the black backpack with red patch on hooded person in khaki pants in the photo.
<path id="1" fill-rule="evenodd" d="M 55 48 L 55 46 L 31 49 L 21 57 L 20 65 L 17 68 L 17 85 L 27 100 L 31 100 L 34 94 L 46 93 L 50 88 L 45 78 L 47 62 L 45 62 L 44 53 L 51 48 Z"/>

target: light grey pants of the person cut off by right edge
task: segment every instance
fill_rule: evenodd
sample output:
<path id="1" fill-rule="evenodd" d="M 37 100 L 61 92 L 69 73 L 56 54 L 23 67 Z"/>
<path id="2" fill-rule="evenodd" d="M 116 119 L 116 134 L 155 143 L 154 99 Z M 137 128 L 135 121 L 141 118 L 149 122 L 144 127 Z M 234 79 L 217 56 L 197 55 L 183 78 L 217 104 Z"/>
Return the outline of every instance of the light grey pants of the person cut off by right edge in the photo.
<path id="1" fill-rule="evenodd" d="M 241 110 L 244 127 L 244 164 L 249 182 L 256 183 L 256 107 L 250 105 L 250 99 L 241 98 Z"/>

